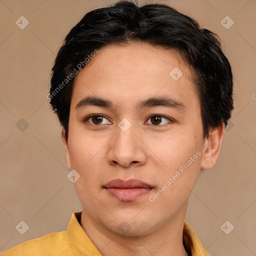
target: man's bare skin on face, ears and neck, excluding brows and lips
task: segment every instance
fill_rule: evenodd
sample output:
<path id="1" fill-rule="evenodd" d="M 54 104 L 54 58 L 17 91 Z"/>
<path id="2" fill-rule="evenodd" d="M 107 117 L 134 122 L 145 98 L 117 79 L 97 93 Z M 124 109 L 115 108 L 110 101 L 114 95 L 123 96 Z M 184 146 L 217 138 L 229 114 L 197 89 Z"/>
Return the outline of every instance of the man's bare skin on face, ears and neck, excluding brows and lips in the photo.
<path id="1" fill-rule="evenodd" d="M 176 81 L 169 75 L 173 67 L 183 73 Z M 114 108 L 75 107 L 86 96 L 110 100 Z M 172 97 L 184 108 L 136 109 L 140 100 L 153 96 Z M 105 117 L 83 122 L 90 114 Z M 150 119 L 152 114 L 163 115 L 160 124 Z M 131 124 L 127 131 L 118 126 L 123 118 Z M 81 225 L 102 255 L 187 255 L 182 227 L 188 198 L 200 169 L 212 168 L 218 158 L 224 125 L 203 138 L 192 73 L 177 51 L 140 42 L 100 48 L 75 77 L 67 140 L 64 134 L 63 129 L 68 168 L 80 174 L 74 185 Z M 150 202 L 149 196 L 197 151 L 200 156 Z M 115 178 L 140 179 L 154 188 L 133 201 L 120 201 L 102 188 Z M 130 228 L 126 233 L 118 228 L 123 221 Z"/>

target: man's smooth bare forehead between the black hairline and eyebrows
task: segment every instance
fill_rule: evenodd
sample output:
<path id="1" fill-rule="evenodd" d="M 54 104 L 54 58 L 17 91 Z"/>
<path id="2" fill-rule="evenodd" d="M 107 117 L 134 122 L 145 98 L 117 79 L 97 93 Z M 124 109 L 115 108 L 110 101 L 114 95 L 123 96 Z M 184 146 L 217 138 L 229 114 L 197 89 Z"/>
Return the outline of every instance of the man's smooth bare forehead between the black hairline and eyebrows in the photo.
<path id="1" fill-rule="evenodd" d="M 138 98 L 166 94 L 180 102 L 188 96 L 198 100 L 192 73 L 181 55 L 141 42 L 100 48 L 75 76 L 73 86 L 73 107 L 87 95 L 116 103 L 125 98 L 136 105 Z"/>

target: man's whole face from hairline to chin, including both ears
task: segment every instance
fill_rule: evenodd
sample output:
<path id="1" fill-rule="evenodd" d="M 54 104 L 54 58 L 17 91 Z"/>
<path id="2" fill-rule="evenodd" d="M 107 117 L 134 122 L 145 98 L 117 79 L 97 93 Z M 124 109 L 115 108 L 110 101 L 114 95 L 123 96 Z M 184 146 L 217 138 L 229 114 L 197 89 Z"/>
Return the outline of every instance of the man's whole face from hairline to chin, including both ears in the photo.
<path id="1" fill-rule="evenodd" d="M 200 168 L 214 165 L 222 139 L 220 129 L 212 144 L 203 138 L 191 77 L 178 52 L 142 43 L 105 46 L 78 72 L 62 139 L 92 222 L 141 235 L 184 217 Z"/>

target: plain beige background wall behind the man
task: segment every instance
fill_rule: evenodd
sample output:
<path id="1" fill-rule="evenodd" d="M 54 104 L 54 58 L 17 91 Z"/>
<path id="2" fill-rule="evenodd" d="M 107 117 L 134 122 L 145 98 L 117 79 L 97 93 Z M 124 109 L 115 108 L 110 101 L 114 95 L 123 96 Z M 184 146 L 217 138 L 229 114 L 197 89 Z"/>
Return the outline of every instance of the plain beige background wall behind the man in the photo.
<path id="1" fill-rule="evenodd" d="M 81 210 L 46 94 L 66 33 L 89 10 L 113 0 L 0 0 L 0 251 L 65 230 Z M 139 1 L 139 3 L 156 1 Z M 159 0 L 217 32 L 234 74 L 235 109 L 219 159 L 199 178 L 186 220 L 211 255 L 256 255 L 255 0 Z M 29 24 L 20 29 L 21 16 Z M 234 24 L 225 29 L 226 16 Z M 254 93 L 254 94 L 253 94 Z M 253 99 L 254 98 L 254 99 Z M 21 131 L 16 123 L 25 119 Z M 22 122 L 22 121 L 21 121 Z M 15 226 L 29 225 L 25 234 Z M 225 234 L 228 220 L 234 229 Z M 155 255 L 156 256 L 156 255 Z"/>

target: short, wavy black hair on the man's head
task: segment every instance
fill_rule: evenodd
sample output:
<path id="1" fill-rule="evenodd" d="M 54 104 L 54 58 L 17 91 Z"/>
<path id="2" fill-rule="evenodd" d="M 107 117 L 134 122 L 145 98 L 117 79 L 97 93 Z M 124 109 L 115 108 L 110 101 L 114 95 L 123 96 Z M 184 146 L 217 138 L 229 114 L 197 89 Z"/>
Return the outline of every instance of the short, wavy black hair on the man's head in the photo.
<path id="1" fill-rule="evenodd" d="M 68 135 L 73 79 L 92 53 L 109 44 L 146 42 L 176 49 L 193 71 L 200 100 L 203 137 L 231 116 L 233 77 L 219 37 L 196 20 L 165 4 L 138 6 L 135 1 L 118 1 L 89 11 L 69 31 L 59 49 L 47 96 Z M 87 61 L 86 61 L 87 59 Z"/>

